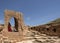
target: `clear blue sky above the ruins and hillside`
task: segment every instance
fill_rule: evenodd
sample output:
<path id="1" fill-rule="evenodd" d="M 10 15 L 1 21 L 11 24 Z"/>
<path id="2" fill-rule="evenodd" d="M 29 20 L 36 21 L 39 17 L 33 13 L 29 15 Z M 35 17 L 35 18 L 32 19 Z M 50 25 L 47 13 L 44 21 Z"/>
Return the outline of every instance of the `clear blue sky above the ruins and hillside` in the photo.
<path id="1" fill-rule="evenodd" d="M 5 9 L 22 12 L 24 23 L 30 26 L 60 18 L 60 0 L 0 0 L 1 24 L 4 24 Z"/>

